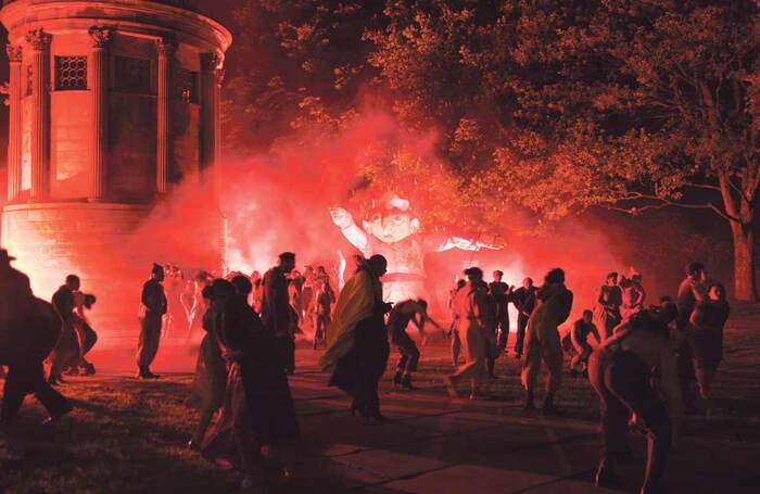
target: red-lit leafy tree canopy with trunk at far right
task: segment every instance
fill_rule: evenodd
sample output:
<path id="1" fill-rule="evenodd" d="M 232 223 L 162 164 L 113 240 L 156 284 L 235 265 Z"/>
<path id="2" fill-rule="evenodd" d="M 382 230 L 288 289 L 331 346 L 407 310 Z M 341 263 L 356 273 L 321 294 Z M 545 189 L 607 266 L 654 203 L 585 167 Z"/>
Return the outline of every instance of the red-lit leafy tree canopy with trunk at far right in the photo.
<path id="1" fill-rule="evenodd" d="M 410 131 L 438 132 L 436 154 L 473 204 L 549 219 L 591 206 L 718 214 L 733 233 L 736 296 L 753 300 L 757 10 L 750 0 L 246 0 L 236 15 L 255 28 L 238 42 L 268 59 L 230 81 L 232 98 L 249 101 L 230 115 L 244 113 L 248 130 L 276 121 L 265 144 L 306 122 L 345 125 L 370 99 Z"/>

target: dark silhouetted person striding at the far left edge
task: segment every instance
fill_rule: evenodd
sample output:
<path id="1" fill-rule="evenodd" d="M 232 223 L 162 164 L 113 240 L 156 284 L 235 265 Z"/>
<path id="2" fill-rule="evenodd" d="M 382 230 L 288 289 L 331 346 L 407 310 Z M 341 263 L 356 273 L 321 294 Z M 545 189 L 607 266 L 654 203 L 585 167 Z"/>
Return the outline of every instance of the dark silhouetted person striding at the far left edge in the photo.
<path id="1" fill-rule="evenodd" d="M 34 393 L 52 423 L 72 409 L 68 401 L 45 379 L 42 360 L 61 335 L 53 306 L 31 293 L 29 278 L 11 267 L 15 257 L 0 250 L 0 365 L 8 366 L 0 422 L 9 423 L 24 396 Z"/>

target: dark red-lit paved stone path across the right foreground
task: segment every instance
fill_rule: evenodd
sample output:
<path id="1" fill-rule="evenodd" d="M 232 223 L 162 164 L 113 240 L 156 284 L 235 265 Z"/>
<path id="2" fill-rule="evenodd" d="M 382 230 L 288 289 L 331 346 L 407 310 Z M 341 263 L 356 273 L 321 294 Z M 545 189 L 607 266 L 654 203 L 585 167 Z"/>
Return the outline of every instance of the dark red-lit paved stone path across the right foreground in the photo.
<path id="1" fill-rule="evenodd" d="M 591 483 L 596 426 L 524 416 L 517 403 L 452 401 L 440 390 L 383 389 L 387 423 L 350 416 L 349 402 L 326 390 L 325 377 L 292 380 L 304 436 L 322 445 L 347 485 L 370 492 L 605 492 Z M 638 458 L 643 438 L 632 438 Z M 757 444 L 725 438 L 685 439 L 674 452 L 668 484 L 674 492 L 751 492 L 760 486 Z M 623 469 L 637 490 L 643 464 Z M 757 491 L 755 491 L 757 492 Z"/>

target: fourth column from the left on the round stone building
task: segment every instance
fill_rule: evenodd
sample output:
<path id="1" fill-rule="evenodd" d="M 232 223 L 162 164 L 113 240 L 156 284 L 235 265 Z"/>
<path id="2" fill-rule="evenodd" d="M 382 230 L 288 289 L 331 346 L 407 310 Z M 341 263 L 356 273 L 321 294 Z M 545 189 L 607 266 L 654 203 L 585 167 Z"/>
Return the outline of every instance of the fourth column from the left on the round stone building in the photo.
<path id="1" fill-rule="evenodd" d="M 168 191 L 169 164 L 172 163 L 172 61 L 177 49 L 174 38 L 160 38 L 155 42 L 159 52 L 159 100 L 156 125 L 155 191 Z"/>

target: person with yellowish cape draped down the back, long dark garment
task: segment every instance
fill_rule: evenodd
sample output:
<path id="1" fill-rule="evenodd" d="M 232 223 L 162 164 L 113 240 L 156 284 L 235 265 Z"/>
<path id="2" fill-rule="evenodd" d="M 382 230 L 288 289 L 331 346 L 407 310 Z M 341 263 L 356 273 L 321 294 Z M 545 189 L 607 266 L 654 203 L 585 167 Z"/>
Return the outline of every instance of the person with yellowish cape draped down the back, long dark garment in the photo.
<path id="1" fill-rule="evenodd" d="M 383 316 L 391 304 L 382 300 L 380 278 L 388 262 L 382 255 L 358 257 L 356 274 L 345 283 L 328 328 L 327 350 L 319 360 L 331 372 L 331 387 L 352 396 L 351 413 L 382 420 L 378 381 L 385 371 L 390 346 Z"/>

